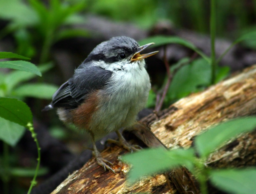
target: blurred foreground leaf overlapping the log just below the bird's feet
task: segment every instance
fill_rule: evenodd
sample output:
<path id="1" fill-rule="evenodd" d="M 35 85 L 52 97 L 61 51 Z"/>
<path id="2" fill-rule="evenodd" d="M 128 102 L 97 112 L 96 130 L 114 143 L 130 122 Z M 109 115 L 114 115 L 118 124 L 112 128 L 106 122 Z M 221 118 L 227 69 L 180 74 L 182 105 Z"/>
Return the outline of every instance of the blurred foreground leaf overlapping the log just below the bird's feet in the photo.
<path id="1" fill-rule="evenodd" d="M 168 151 L 163 148 L 143 149 L 136 153 L 122 156 L 123 161 L 132 165 L 129 181 L 134 182 L 141 176 L 163 172 L 179 165 L 193 166 L 194 150 L 175 149 Z"/>

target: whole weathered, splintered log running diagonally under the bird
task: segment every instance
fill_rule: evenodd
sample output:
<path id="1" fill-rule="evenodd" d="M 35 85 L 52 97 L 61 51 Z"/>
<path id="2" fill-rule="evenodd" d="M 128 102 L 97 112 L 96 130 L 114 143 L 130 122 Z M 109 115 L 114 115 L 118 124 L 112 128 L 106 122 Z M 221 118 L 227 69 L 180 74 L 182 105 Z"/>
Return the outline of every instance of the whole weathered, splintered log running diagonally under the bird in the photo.
<path id="1" fill-rule="evenodd" d="M 254 113 L 256 113 L 256 66 L 247 68 L 242 73 L 203 92 L 183 98 L 169 109 L 160 112 L 158 116 L 149 115 L 142 122 L 150 126 L 154 135 L 160 140 L 159 144 L 168 148 L 189 147 L 193 138 L 209 126 Z M 156 140 L 147 139 L 147 135 L 143 132 L 139 134 L 140 132 L 138 127 L 137 136 L 141 136 L 141 140 L 147 142 L 146 144 L 149 146 L 158 144 Z M 126 151 L 117 146 L 108 147 L 102 152 L 102 156 L 114 164 L 116 174 L 104 172 L 104 169 L 92 158 L 83 168 L 71 174 L 52 194 L 176 192 L 173 184 L 171 188 L 168 187 L 164 175 L 144 178 L 135 185 L 129 185 L 125 181 L 129 166 L 117 159 L 124 153 Z M 229 142 L 213 153 L 208 159 L 208 165 L 214 167 L 253 165 L 256 163 L 255 158 L 256 134 L 250 133 Z M 179 176 L 182 175 L 181 173 Z"/>

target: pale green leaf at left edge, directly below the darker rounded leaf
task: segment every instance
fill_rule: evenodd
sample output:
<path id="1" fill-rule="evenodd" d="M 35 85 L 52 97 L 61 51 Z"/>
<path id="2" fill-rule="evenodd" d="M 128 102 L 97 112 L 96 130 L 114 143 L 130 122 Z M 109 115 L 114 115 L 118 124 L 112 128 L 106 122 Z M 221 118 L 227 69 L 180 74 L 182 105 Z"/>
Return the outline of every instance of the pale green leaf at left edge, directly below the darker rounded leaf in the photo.
<path id="1" fill-rule="evenodd" d="M 0 117 L 0 139 L 15 146 L 25 132 L 25 127 Z"/>

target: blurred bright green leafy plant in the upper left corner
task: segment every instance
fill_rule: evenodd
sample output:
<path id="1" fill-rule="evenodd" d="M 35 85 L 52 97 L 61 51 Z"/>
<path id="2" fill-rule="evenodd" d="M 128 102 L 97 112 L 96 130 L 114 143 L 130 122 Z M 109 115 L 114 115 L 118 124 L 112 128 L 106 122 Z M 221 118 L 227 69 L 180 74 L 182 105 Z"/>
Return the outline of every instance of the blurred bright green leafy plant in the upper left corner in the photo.
<path id="1" fill-rule="evenodd" d="M 40 49 L 40 63 L 47 62 L 51 46 L 58 40 L 76 36 L 88 36 L 86 30 L 68 28 L 70 24 L 84 23 L 78 12 L 84 9 L 84 1 L 73 3 L 50 0 L 48 5 L 40 0 L 1 0 L 0 18 L 10 20 L 0 31 L 0 39 L 13 33 L 18 54 L 33 57 Z"/>

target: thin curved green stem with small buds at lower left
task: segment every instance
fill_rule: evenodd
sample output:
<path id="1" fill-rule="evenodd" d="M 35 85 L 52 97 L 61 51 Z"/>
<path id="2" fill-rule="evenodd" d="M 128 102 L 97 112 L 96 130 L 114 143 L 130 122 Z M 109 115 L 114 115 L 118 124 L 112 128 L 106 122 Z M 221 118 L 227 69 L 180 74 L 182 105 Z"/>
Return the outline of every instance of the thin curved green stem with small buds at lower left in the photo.
<path id="1" fill-rule="evenodd" d="M 32 138 L 34 139 L 34 141 L 36 142 L 36 147 L 37 147 L 37 153 L 38 153 L 38 158 L 37 158 L 37 165 L 36 165 L 36 171 L 35 171 L 35 174 L 34 174 L 34 177 L 33 177 L 33 180 L 31 181 L 31 184 L 30 184 L 30 187 L 29 187 L 29 190 L 28 190 L 28 193 L 27 194 L 30 194 L 33 186 L 36 185 L 36 177 L 37 177 L 37 173 L 38 173 L 38 170 L 39 170 L 39 167 L 40 167 L 40 160 L 41 160 L 41 153 L 40 153 L 40 150 L 41 148 L 39 147 L 39 143 L 38 143 L 38 140 L 36 138 L 37 134 L 35 133 L 34 131 L 34 127 L 32 125 L 32 123 L 28 123 L 27 125 L 28 127 L 28 130 L 30 130 L 31 134 L 32 134 Z"/>

